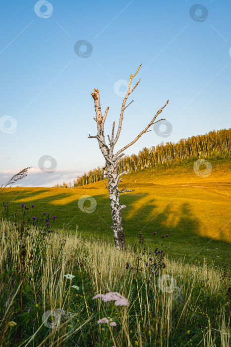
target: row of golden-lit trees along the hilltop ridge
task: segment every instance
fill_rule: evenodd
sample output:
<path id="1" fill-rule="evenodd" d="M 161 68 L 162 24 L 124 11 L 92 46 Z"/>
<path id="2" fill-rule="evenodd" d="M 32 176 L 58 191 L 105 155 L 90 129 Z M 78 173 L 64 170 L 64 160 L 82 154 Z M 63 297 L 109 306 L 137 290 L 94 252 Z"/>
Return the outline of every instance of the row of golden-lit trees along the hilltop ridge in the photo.
<path id="1" fill-rule="evenodd" d="M 118 173 L 144 170 L 161 164 L 173 163 L 182 159 L 210 157 L 214 154 L 231 153 L 231 128 L 213 130 L 205 135 L 181 139 L 177 143 L 167 142 L 156 147 L 143 148 L 138 155 L 132 154 L 121 158 L 117 165 Z M 56 188 L 80 187 L 102 180 L 101 167 L 90 170 L 82 176 L 77 176 L 73 182 L 56 184 Z M 107 171 L 104 173 L 107 178 Z"/>

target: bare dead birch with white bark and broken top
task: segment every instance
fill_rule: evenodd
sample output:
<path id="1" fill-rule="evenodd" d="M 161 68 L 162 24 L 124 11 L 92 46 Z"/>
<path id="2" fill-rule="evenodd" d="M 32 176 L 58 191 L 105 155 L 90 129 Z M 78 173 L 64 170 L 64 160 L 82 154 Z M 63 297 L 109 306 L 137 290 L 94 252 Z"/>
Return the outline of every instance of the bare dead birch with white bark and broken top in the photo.
<path id="1" fill-rule="evenodd" d="M 94 119 L 95 119 L 95 121 L 97 123 L 97 135 L 91 136 L 89 134 L 89 138 L 96 138 L 98 140 L 98 143 L 99 143 L 99 146 L 100 146 L 100 150 L 101 150 L 101 152 L 102 152 L 102 154 L 103 154 L 103 156 L 104 156 L 104 158 L 106 160 L 106 166 L 103 168 L 102 179 L 104 181 L 104 173 L 106 172 L 106 169 L 107 169 L 107 173 L 106 174 L 108 176 L 108 185 L 106 184 L 105 181 L 104 181 L 104 183 L 105 183 L 105 185 L 106 185 L 106 187 L 107 187 L 107 189 L 109 191 L 115 246 L 116 246 L 117 249 L 123 249 L 123 250 L 126 249 L 126 242 L 125 242 L 125 237 L 124 237 L 124 232 L 123 232 L 123 227 L 122 227 L 121 211 L 122 211 L 123 208 L 126 207 L 126 205 L 120 205 L 120 203 L 119 203 L 119 196 L 120 196 L 120 193 L 130 192 L 130 191 L 134 191 L 134 190 L 133 189 L 128 190 L 128 189 L 126 189 L 127 187 L 122 188 L 122 189 L 119 190 L 118 184 L 122 180 L 121 175 L 126 174 L 127 172 L 124 171 L 123 173 L 119 173 L 118 174 L 117 173 L 117 163 L 118 163 L 119 159 L 124 155 L 124 153 L 122 153 L 122 152 L 124 150 L 126 150 L 128 147 L 130 147 L 133 143 L 135 143 L 140 138 L 140 136 L 142 136 L 144 133 L 148 132 L 147 130 L 150 128 L 150 126 L 157 122 L 157 121 L 155 122 L 157 116 L 160 115 L 162 110 L 169 103 L 169 100 L 168 100 L 167 103 L 165 104 L 165 106 L 163 106 L 156 113 L 156 115 L 152 118 L 152 120 L 146 126 L 146 128 L 144 130 L 142 130 L 136 136 L 136 138 L 133 141 L 131 141 L 129 144 L 127 144 L 126 146 L 124 146 L 123 148 L 121 148 L 119 151 L 117 151 L 114 154 L 114 147 L 115 147 L 116 142 L 117 142 L 117 140 L 119 138 L 119 134 L 120 134 L 121 127 L 122 127 L 122 120 L 123 120 L 124 110 L 126 109 L 127 106 L 129 106 L 131 104 L 130 103 L 130 104 L 128 104 L 125 107 L 127 98 L 135 90 L 135 88 L 137 87 L 137 85 L 140 82 L 140 80 L 139 80 L 135 84 L 134 88 L 132 88 L 132 90 L 130 90 L 130 88 L 131 88 L 131 81 L 135 77 L 137 72 L 139 71 L 140 66 L 138 67 L 138 69 L 137 69 L 137 71 L 136 71 L 136 73 L 134 75 L 130 75 L 129 82 L 128 82 L 127 93 L 126 93 L 126 96 L 123 99 L 123 103 L 122 103 L 122 108 L 121 108 L 121 113 L 120 113 L 120 117 L 119 117 L 119 123 L 118 123 L 118 129 L 117 129 L 116 136 L 114 136 L 115 121 L 113 122 L 111 138 L 108 135 L 109 146 L 106 144 L 105 134 L 104 134 L 104 123 L 105 123 L 105 120 L 106 120 L 106 117 L 107 117 L 107 114 L 108 114 L 108 111 L 109 111 L 109 107 L 106 109 L 104 116 L 102 116 L 101 107 L 100 107 L 100 94 L 99 94 L 99 90 L 98 89 L 94 89 L 94 93 L 91 94 L 93 99 L 94 99 L 94 103 L 95 103 L 96 117 Z M 163 120 L 163 119 L 159 119 L 158 121 L 160 121 L 160 120 Z M 149 130 L 149 131 L 151 131 L 151 130 Z"/>

